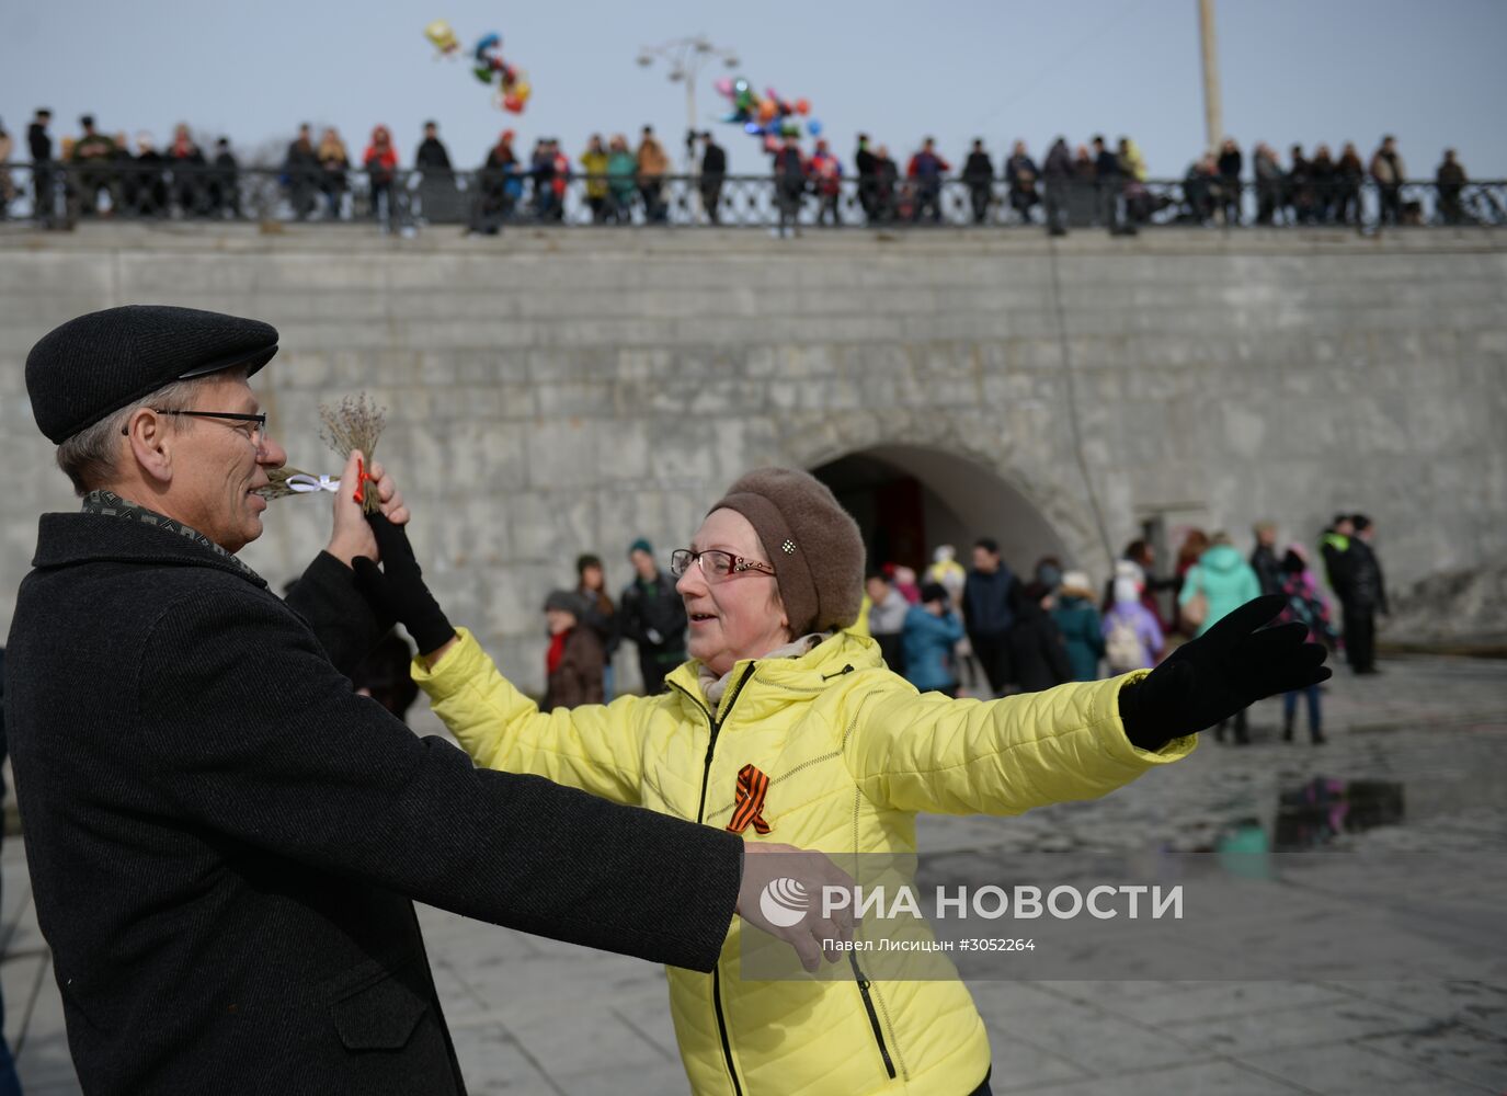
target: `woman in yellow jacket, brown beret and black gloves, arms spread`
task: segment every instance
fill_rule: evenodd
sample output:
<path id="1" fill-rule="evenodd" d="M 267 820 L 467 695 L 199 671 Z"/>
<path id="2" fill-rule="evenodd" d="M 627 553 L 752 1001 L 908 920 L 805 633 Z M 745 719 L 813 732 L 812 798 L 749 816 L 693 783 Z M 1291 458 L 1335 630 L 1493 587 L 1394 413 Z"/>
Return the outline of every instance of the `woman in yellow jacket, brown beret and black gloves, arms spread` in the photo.
<path id="1" fill-rule="evenodd" d="M 1252 635 L 1281 609 L 1269 599 L 1151 674 L 989 703 L 918 693 L 847 630 L 864 591 L 853 519 L 805 472 L 763 469 L 671 556 L 690 660 L 666 690 L 546 715 L 451 629 L 401 531 L 378 537 L 386 608 L 422 653 L 414 678 L 478 764 L 749 843 L 912 853 L 919 811 L 1017 814 L 1102 796 L 1185 757 L 1194 733 L 1257 696 L 1329 675 L 1304 626 Z M 764 790 L 761 810 L 740 781 Z M 738 956 L 734 926 L 711 975 L 668 971 L 693 1091 L 989 1091 L 989 1037 L 960 980 L 870 981 L 850 956 L 851 980 L 743 981 Z"/>

